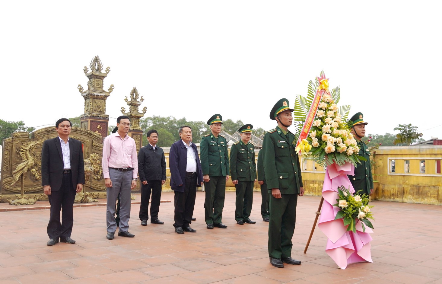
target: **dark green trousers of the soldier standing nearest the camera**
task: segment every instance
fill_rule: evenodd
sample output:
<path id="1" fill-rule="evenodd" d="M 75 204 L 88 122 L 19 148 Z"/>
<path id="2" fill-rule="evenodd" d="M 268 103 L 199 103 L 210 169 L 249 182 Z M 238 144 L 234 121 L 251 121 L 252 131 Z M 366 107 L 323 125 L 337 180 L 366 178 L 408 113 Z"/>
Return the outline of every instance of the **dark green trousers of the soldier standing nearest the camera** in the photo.
<path id="1" fill-rule="evenodd" d="M 281 198 L 269 195 L 269 256 L 274 258 L 290 257 L 292 237 L 296 222 L 298 195 L 281 194 Z"/>

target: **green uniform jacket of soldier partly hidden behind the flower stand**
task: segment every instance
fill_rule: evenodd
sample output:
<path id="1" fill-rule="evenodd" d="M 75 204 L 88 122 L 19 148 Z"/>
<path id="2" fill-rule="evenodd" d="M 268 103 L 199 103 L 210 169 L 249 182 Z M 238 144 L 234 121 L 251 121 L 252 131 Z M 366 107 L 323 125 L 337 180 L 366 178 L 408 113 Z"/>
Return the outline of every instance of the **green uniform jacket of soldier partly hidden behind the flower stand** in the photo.
<path id="1" fill-rule="evenodd" d="M 357 164 L 354 168 L 354 176 L 348 175 L 351 184 L 356 192 L 359 190 L 362 193 L 370 194 L 370 189 L 373 188 L 373 175 L 371 173 L 370 165 L 370 151 L 368 146 L 361 140 L 358 142 L 359 156 L 367 159 L 367 161 L 361 161 L 362 165 Z"/>

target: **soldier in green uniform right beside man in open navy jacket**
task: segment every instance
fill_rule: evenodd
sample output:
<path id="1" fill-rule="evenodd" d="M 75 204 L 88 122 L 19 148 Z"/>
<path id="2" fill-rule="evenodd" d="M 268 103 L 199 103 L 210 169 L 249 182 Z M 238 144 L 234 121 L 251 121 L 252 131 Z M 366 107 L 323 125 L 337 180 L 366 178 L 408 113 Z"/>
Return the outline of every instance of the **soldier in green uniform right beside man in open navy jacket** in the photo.
<path id="1" fill-rule="evenodd" d="M 200 159 L 206 192 L 204 215 L 207 229 L 227 228 L 221 223 L 224 207 L 225 183 L 229 180 L 229 152 L 225 137 L 220 135 L 222 116 L 213 115 L 207 124 L 210 134 L 204 135 L 200 143 Z"/>

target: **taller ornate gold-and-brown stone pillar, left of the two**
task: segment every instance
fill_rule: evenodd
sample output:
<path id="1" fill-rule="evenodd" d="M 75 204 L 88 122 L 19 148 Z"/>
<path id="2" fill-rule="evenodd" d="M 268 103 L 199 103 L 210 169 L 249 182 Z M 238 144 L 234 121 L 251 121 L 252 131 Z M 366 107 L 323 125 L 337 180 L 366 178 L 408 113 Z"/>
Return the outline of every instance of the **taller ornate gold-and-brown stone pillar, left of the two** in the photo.
<path id="1" fill-rule="evenodd" d="M 78 85 L 78 90 L 84 98 L 84 114 L 80 116 L 81 128 L 91 130 L 100 134 L 103 138 L 107 136 L 109 115 L 106 114 L 106 100 L 114 90 L 114 85 L 110 85 L 107 91 L 103 90 L 103 80 L 110 71 L 107 67 L 104 72 L 103 65 L 98 56 L 95 56 L 88 67 L 84 66 L 83 72 L 88 77 L 88 89 L 83 90 Z"/>

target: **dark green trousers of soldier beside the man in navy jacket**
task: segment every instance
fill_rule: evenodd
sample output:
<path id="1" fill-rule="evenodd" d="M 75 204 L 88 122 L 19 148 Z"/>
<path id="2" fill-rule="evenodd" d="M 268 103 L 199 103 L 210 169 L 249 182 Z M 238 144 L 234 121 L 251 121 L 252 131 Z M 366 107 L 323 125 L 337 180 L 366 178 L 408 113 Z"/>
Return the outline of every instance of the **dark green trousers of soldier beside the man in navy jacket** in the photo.
<path id="1" fill-rule="evenodd" d="M 204 217 L 206 224 L 219 224 L 222 219 L 222 208 L 225 198 L 225 177 L 210 176 L 204 183 L 206 200 L 204 200 Z"/>

